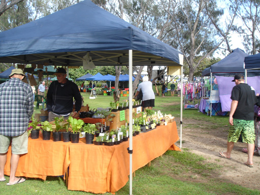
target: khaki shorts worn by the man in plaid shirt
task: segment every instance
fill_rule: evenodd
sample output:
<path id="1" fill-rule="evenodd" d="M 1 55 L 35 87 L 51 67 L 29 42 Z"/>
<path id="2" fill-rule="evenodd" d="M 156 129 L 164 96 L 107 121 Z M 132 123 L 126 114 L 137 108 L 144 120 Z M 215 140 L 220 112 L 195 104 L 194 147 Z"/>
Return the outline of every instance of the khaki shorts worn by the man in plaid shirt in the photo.
<path id="1" fill-rule="evenodd" d="M 12 141 L 12 154 L 28 153 L 28 133 L 25 131 L 20 136 L 4 136 L 0 134 L 0 153 L 8 152 L 8 147 Z"/>

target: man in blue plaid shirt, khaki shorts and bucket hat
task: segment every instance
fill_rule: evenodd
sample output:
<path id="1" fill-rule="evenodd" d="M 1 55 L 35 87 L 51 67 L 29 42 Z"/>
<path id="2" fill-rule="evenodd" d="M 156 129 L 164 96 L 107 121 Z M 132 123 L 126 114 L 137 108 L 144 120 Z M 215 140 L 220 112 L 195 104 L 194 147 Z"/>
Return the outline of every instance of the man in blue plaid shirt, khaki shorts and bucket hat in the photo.
<path id="1" fill-rule="evenodd" d="M 13 69 L 9 81 L 0 85 L 0 182 L 6 181 L 4 168 L 7 152 L 12 143 L 11 172 L 7 185 L 24 182 L 15 177 L 21 154 L 28 152 L 27 127 L 34 112 L 34 96 L 31 87 L 22 82 L 25 74 Z"/>

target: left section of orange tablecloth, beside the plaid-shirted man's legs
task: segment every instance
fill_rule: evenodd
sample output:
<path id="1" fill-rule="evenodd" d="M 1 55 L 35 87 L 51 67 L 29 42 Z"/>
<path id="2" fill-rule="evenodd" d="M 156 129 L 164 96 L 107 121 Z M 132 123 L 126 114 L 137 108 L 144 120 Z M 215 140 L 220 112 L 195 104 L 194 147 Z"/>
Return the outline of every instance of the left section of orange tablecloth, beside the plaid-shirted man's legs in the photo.
<path id="1" fill-rule="evenodd" d="M 16 176 L 46 179 L 46 176 L 63 175 L 70 165 L 69 145 L 71 142 L 53 142 L 39 139 L 28 140 L 28 153 L 21 155 Z M 11 147 L 7 153 L 5 175 L 10 175 Z"/>

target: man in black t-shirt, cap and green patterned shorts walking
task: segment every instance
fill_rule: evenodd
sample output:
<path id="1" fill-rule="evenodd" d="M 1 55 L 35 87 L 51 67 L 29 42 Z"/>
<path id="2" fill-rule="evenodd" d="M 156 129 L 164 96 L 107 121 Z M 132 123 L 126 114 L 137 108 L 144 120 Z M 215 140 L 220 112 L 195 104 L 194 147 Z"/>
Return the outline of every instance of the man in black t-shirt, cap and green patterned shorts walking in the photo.
<path id="1" fill-rule="evenodd" d="M 231 152 L 235 142 L 238 141 L 240 134 L 243 142 L 247 143 L 248 159 L 244 163 L 248 167 L 253 166 L 254 152 L 254 104 L 256 96 L 254 89 L 244 83 L 244 76 L 237 74 L 233 82 L 236 86 L 233 87 L 231 93 L 231 110 L 230 110 L 230 130 L 228 136 L 228 148 L 226 152 L 220 152 L 219 156 L 231 159 Z"/>

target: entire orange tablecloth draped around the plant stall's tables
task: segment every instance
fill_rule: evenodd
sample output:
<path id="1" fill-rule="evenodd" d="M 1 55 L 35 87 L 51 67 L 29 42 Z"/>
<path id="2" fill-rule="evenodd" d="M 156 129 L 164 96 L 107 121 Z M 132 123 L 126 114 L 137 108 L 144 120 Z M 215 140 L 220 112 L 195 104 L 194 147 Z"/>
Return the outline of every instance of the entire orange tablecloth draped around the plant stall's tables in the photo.
<path id="1" fill-rule="evenodd" d="M 174 145 L 178 140 L 176 122 L 133 137 L 133 171 L 168 149 L 180 150 Z M 63 175 L 70 166 L 68 189 L 93 193 L 115 192 L 128 181 L 127 147 L 129 141 L 115 146 L 96 146 L 85 144 L 84 139 L 72 144 L 29 138 L 28 154 L 20 157 L 17 176 L 46 179 L 48 175 Z M 10 175 L 10 153 L 9 150 L 6 175 Z"/>

